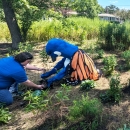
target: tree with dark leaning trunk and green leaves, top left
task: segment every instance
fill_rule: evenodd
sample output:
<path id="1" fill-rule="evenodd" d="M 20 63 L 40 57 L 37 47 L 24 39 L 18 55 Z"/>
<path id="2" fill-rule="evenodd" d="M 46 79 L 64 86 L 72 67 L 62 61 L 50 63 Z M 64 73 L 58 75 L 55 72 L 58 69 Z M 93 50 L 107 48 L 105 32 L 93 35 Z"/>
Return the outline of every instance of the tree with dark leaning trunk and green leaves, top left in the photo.
<path id="1" fill-rule="evenodd" d="M 29 3 L 29 2 L 30 3 Z M 39 6 L 39 8 L 45 9 L 49 5 L 50 0 L 42 1 L 42 0 L 2 0 L 0 4 L 2 4 L 5 21 L 7 22 L 11 38 L 12 38 L 12 48 L 17 49 L 18 43 L 26 41 L 27 31 L 30 28 L 31 24 L 35 20 L 39 20 L 41 18 L 41 13 L 35 5 Z M 32 4 L 32 5 L 30 5 Z M 33 6 L 34 5 L 34 6 Z M 21 25 L 19 27 L 18 25 Z"/>

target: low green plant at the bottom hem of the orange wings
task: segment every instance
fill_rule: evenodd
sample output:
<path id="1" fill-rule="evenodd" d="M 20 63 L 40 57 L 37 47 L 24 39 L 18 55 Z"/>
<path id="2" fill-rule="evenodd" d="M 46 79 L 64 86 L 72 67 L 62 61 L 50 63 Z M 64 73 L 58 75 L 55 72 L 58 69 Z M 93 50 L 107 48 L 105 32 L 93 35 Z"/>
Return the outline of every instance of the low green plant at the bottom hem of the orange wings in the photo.
<path id="1" fill-rule="evenodd" d="M 81 82 L 80 89 L 81 90 L 90 90 L 90 89 L 94 88 L 95 86 L 96 85 L 95 85 L 94 80 L 84 80 Z"/>

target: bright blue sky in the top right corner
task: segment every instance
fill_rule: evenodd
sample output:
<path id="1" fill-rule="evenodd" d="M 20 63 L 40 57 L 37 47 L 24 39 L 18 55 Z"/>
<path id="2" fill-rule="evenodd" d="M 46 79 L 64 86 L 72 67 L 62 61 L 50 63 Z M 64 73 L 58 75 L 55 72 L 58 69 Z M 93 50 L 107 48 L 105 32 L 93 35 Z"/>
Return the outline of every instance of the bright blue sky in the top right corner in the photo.
<path id="1" fill-rule="evenodd" d="M 110 5 L 115 5 L 119 9 L 129 9 L 130 10 L 130 0 L 97 0 L 98 4 L 103 8 Z"/>

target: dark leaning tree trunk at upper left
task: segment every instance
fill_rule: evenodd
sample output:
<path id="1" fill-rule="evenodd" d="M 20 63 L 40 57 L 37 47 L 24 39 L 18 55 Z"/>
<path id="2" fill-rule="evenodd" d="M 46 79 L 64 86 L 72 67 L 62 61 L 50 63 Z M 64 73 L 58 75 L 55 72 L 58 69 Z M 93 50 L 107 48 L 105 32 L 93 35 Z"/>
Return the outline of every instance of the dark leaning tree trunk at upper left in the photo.
<path id="1" fill-rule="evenodd" d="M 15 17 L 11 0 L 2 0 L 2 5 L 5 14 L 5 20 L 7 22 L 12 38 L 12 49 L 17 49 L 19 42 L 22 42 L 22 36 Z"/>

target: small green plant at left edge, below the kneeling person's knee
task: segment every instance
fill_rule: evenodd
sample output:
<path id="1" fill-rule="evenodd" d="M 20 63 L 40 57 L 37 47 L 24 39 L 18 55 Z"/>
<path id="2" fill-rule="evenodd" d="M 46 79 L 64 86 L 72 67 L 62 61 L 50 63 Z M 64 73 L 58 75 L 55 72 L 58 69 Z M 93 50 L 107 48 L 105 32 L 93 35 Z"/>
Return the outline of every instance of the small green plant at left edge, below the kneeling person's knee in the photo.
<path id="1" fill-rule="evenodd" d="M 8 123 L 11 119 L 11 114 L 8 108 L 4 108 L 3 106 L 0 108 L 0 123 Z"/>

